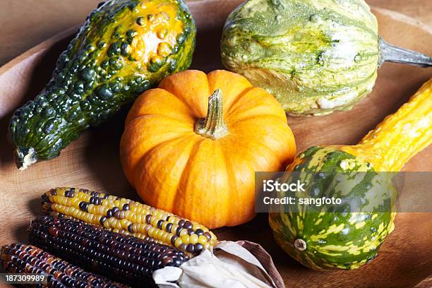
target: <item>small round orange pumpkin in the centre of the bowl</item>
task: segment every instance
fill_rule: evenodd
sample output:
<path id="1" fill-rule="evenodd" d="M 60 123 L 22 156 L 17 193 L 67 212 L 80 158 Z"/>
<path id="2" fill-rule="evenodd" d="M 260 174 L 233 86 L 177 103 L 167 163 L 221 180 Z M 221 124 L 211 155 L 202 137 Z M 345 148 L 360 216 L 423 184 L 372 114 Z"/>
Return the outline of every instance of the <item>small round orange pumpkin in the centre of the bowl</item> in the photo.
<path id="1" fill-rule="evenodd" d="M 222 70 L 176 73 L 143 93 L 120 144 L 145 203 L 209 228 L 251 220 L 255 172 L 284 169 L 295 153 L 279 102 Z"/>

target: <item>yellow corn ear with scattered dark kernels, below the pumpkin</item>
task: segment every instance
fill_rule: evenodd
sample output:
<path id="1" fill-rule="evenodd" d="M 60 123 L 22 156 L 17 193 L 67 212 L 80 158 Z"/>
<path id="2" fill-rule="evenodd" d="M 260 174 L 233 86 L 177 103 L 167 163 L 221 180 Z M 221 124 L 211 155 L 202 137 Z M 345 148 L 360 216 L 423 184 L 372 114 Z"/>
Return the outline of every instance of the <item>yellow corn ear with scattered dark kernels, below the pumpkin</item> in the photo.
<path id="1" fill-rule="evenodd" d="M 75 218 L 102 226 L 116 233 L 154 239 L 197 255 L 203 248 L 212 249 L 216 236 L 197 222 L 126 198 L 61 187 L 42 196 L 42 210 L 52 217 Z"/>

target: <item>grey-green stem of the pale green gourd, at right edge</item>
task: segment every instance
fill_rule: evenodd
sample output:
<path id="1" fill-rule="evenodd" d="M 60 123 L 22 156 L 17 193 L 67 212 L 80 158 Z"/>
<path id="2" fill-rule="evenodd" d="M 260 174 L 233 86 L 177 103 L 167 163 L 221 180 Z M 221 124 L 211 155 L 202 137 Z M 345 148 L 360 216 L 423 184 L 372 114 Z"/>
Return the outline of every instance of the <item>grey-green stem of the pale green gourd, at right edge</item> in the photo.
<path id="1" fill-rule="evenodd" d="M 410 65 L 420 66 L 424 68 L 432 66 L 432 57 L 427 56 L 425 54 L 421 54 L 419 52 L 390 45 L 387 42 L 385 42 L 381 37 L 379 40 L 379 45 L 380 45 L 380 59 L 378 61 L 379 66 L 381 66 L 381 64 L 383 64 L 384 61 L 410 64 Z"/>

